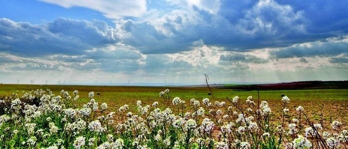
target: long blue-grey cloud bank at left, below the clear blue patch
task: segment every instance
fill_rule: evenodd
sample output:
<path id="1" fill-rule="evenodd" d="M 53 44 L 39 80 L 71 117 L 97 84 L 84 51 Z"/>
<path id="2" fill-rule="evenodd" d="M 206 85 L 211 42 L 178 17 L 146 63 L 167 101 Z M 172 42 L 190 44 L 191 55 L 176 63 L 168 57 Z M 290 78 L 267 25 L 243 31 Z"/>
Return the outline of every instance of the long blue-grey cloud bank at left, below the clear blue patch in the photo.
<path id="1" fill-rule="evenodd" d="M 0 18 L 0 51 L 26 56 L 82 55 L 87 50 L 116 43 L 115 29 L 103 21 L 58 18 L 35 25 Z"/>

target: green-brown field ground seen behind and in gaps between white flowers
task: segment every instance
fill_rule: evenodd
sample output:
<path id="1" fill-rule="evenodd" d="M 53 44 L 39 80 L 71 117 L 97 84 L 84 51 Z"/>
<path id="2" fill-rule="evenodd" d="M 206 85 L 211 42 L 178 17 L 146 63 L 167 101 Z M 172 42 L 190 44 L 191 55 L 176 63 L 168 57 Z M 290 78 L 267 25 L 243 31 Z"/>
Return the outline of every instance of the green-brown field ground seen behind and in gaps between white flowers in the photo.
<path id="1" fill-rule="evenodd" d="M 170 98 L 169 98 L 169 100 L 168 99 L 164 100 L 167 97 L 161 97 L 160 92 L 164 91 L 167 88 L 170 90 Z M 347 116 L 347 113 L 348 113 L 348 89 L 297 89 L 297 90 L 260 90 L 260 91 L 257 91 L 257 90 L 235 90 L 233 88 L 213 87 L 212 88 L 212 95 L 209 95 L 208 94 L 209 89 L 207 87 L 173 87 L 173 86 L 143 87 L 143 86 L 79 86 L 79 85 L 0 84 L 0 95 L 2 95 L 3 97 L 4 96 L 11 96 L 12 93 L 21 95 L 21 94 L 23 94 L 23 92 L 30 92 L 31 90 L 36 90 L 36 89 L 43 89 L 43 90 L 50 89 L 53 92 L 53 94 L 55 94 L 55 95 L 61 95 L 61 90 L 64 89 L 72 96 L 73 96 L 73 91 L 78 90 L 79 91 L 78 94 L 80 96 L 80 98 L 76 101 L 78 108 L 81 108 L 84 104 L 86 104 L 90 101 L 90 97 L 88 94 L 90 91 L 93 91 L 94 92 L 93 98 L 95 99 L 95 102 L 98 102 L 99 105 L 103 102 L 105 102 L 107 104 L 107 110 L 102 111 L 102 113 L 103 112 L 109 113 L 112 111 L 118 113 L 119 108 L 122 107 L 124 104 L 129 105 L 128 111 L 133 112 L 133 113 L 137 113 L 139 111 L 139 109 L 142 108 L 142 106 L 143 106 L 143 108 L 145 105 L 151 106 L 155 101 L 158 101 L 159 102 L 158 107 L 161 110 L 165 110 L 167 107 L 169 107 L 172 109 L 174 114 L 178 114 L 177 118 L 183 116 L 183 113 L 180 116 L 180 111 L 181 112 L 188 111 L 188 112 L 193 112 L 193 113 L 197 112 L 198 107 L 193 105 L 192 101 L 194 101 L 194 100 L 191 100 L 192 98 L 201 102 L 200 106 L 206 106 L 206 104 L 203 104 L 203 102 L 202 102 L 202 99 L 204 99 L 204 98 L 209 98 L 210 102 L 213 104 L 215 103 L 215 101 L 219 101 L 219 102 L 225 101 L 226 105 L 223 105 L 223 107 L 226 107 L 226 109 L 225 109 L 226 111 L 223 111 L 223 112 L 228 113 L 227 107 L 230 105 L 235 106 L 237 108 L 238 107 L 242 108 L 242 109 L 240 109 L 240 111 L 243 111 L 243 110 L 246 111 L 247 110 L 246 108 L 248 107 L 248 105 L 246 104 L 247 98 L 249 96 L 253 96 L 254 101 L 257 102 L 258 101 L 258 94 L 259 94 L 260 102 L 262 100 L 266 100 L 268 102 L 269 108 L 272 110 L 271 115 L 273 115 L 273 117 L 270 119 L 265 119 L 266 117 L 264 117 L 264 116 L 260 117 L 260 113 L 259 113 L 259 118 L 260 119 L 262 118 L 262 120 L 265 120 L 265 122 L 267 121 L 267 123 L 268 123 L 268 121 L 272 121 L 272 124 L 274 123 L 274 125 L 280 124 L 283 126 L 287 126 L 288 123 L 291 123 L 290 118 L 294 118 L 298 114 L 298 113 L 296 114 L 296 108 L 298 106 L 302 106 L 304 108 L 303 114 L 305 114 L 307 116 L 307 118 L 310 119 L 311 123 L 320 123 L 322 125 L 322 127 L 324 128 L 324 130 L 327 130 L 330 133 L 334 133 L 334 131 L 331 129 L 331 126 L 335 120 L 343 123 L 343 125 L 342 125 L 343 130 L 347 129 L 347 126 L 348 126 L 348 116 Z M 283 98 L 282 96 L 284 96 L 284 95 L 286 95 L 288 98 L 290 98 L 289 103 L 282 102 L 282 98 Z M 235 96 L 239 96 L 239 99 L 238 99 L 238 102 L 233 103 L 232 101 L 235 100 Z M 180 101 L 180 104 L 174 105 L 174 100 L 173 100 L 174 97 L 179 97 L 180 98 L 179 100 L 185 101 L 185 103 L 182 104 L 182 105 L 185 105 L 185 106 L 182 106 L 183 109 L 179 109 L 179 105 L 181 108 L 181 101 Z M 230 100 L 228 100 L 227 98 Z M 137 103 L 138 100 L 142 101 L 142 104 L 141 104 L 142 106 L 139 106 L 139 103 Z M 173 103 L 172 103 L 172 100 L 173 100 Z M 192 105 L 190 102 L 192 102 Z M 289 114 L 284 115 L 284 112 L 283 112 L 283 109 L 285 106 L 284 104 L 286 104 L 286 107 L 289 109 Z M 221 106 L 217 105 L 217 107 L 221 107 Z M 209 106 L 206 106 L 204 108 L 209 108 Z M 206 110 L 208 110 L 208 109 L 206 109 Z M 254 109 L 254 110 L 256 110 L 256 109 Z M 237 111 L 238 111 L 238 109 L 237 109 Z M 205 113 L 207 113 L 207 112 L 208 111 L 206 111 Z M 230 112 L 232 112 L 232 111 L 230 111 Z M 100 115 L 102 113 L 99 112 L 99 113 L 97 113 L 97 115 Z M 209 113 L 210 113 L 210 111 L 209 111 Z M 255 118 L 258 118 L 257 113 L 255 113 L 255 114 L 256 114 Z M 122 116 L 121 114 L 116 114 L 116 115 L 117 116 L 116 116 L 115 121 L 117 121 L 119 123 L 122 123 L 122 121 L 125 121 L 124 123 L 127 124 L 127 122 L 125 120 L 125 116 Z M 148 116 L 148 115 L 146 115 L 146 116 Z M 194 120 L 197 122 L 197 124 L 198 123 L 200 124 L 200 122 L 202 121 L 203 118 L 204 117 L 196 118 L 196 116 L 194 116 Z M 214 116 L 209 116 L 209 118 L 213 121 Z M 285 118 L 288 118 L 288 122 L 284 123 Z M 86 119 L 87 122 L 91 122 L 91 123 L 92 123 L 92 120 L 93 119 L 90 119 L 90 120 Z M 231 120 L 231 119 L 229 119 L 229 120 Z M 215 121 L 216 120 L 214 120 L 214 122 Z M 305 121 L 305 124 L 302 124 L 303 126 L 301 126 L 301 122 L 299 124 L 299 128 L 298 128 L 298 129 L 300 129 L 299 133 L 301 133 L 302 127 L 304 129 L 305 125 L 307 125 L 307 126 L 311 125 L 310 123 L 306 122 L 306 120 L 304 120 L 304 121 Z M 1 122 L 1 120 L 0 120 L 0 122 Z M 188 124 L 188 121 L 185 123 Z M 206 138 L 206 139 L 220 138 L 218 134 L 221 131 L 222 127 L 224 127 L 224 124 L 221 125 L 221 124 L 219 124 L 218 121 L 215 123 L 217 123 L 217 125 L 219 125 L 219 126 L 214 127 L 214 129 L 211 130 L 212 136 L 209 137 L 209 136 L 203 135 L 203 138 Z M 172 123 L 170 123 L 170 125 L 171 124 Z M 185 124 L 185 127 L 186 127 L 186 124 Z M 56 123 L 56 125 L 59 125 L 59 124 Z M 202 122 L 202 125 L 203 125 L 203 122 Z M 246 124 L 241 123 L 240 125 L 241 126 L 243 126 L 243 125 L 249 126 L 249 124 L 247 122 L 246 122 Z M 259 127 L 263 127 L 263 129 L 265 129 L 266 126 L 268 127 L 268 124 L 267 125 L 258 124 L 258 125 L 259 125 Z M 65 130 L 64 126 L 58 126 L 58 127 L 60 129 L 64 128 L 64 130 Z M 221 128 L 219 128 L 219 127 L 221 127 Z M 160 130 L 161 129 L 162 128 L 160 128 Z M 164 132 L 165 131 L 173 131 L 173 129 L 172 128 L 166 129 L 166 125 L 164 125 L 163 131 Z M 160 134 L 158 131 L 159 130 L 153 130 L 153 133 Z M 190 133 L 190 129 L 187 129 L 187 128 L 183 129 L 182 131 L 183 131 L 183 136 L 185 136 L 184 135 L 185 133 L 187 133 L 187 135 L 189 135 L 189 133 Z M 191 132 L 191 133 L 193 133 L 193 132 Z M 273 133 L 275 133 L 275 132 L 273 132 Z M 307 131 L 306 131 L 306 134 L 307 134 Z M 344 133 L 342 133 L 342 134 L 344 134 Z M 64 136 L 65 134 L 63 133 L 61 135 Z M 117 133 L 115 135 L 117 135 Z M 274 140 L 274 138 L 273 138 L 273 140 L 264 140 L 264 138 L 261 137 L 262 133 L 259 135 L 256 134 L 256 141 L 249 140 L 249 142 L 247 140 L 243 140 L 243 135 L 238 134 L 238 133 L 235 135 L 240 136 L 239 140 L 246 141 L 246 143 L 248 143 L 248 147 L 255 147 L 255 144 L 253 144 L 255 142 L 260 143 L 260 145 L 259 145 L 259 143 L 256 145 L 256 147 L 258 147 L 258 148 L 259 148 L 259 146 L 263 147 L 263 148 L 270 148 L 272 146 L 272 148 L 273 148 L 273 147 L 275 147 L 275 144 L 277 144 L 276 141 Z M 248 134 L 248 135 L 253 136 L 252 133 Z M 104 139 L 101 138 L 101 140 L 99 140 L 98 143 L 94 143 L 93 144 L 94 147 L 97 147 L 97 145 L 101 145 L 102 142 L 105 142 L 106 141 L 105 136 L 104 136 Z M 136 136 L 138 136 L 138 135 L 135 135 L 133 137 L 136 138 Z M 242 136 L 242 138 L 241 138 L 241 136 Z M 28 137 L 30 137 L 30 136 L 28 136 Z M 90 133 L 86 134 L 86 138 L 87 137 L 89 137 L 89 138 L 91 137 Z M 102 136 L 100 136 L 100 137 L 102 137 Z M 127 141 L 127 138 L 132 138 L 129 136 L 125 137 L 124 134 L 122 134 L 122 133 L 118 134 L 118 137 L 121 137 L 124 141 Z M 166 137 L 166 135 L 164 135 L 163 137 Z M 174 136 L 174 137 L 177 138 L 178 136 Z M 258 137 L 263 138 L 263 141 L 261 141 L 261 142 L 258 141 Z M 295 138 L 294 138 L 294 136 L 288 136 L 288 137 L 289 137 L 289 138 L 287 138 L 288 141 L 291 142 L 297 136 L 295 136 Z M 169 138 L 171 138 L 171 137 L 169 137 Z M 229 138 L 228 136 L 225 136 L 223 138 L 225 138 L 225 141 L 227 141 L 227 139 L 232 139 L 232 141 L 234 140 L 233 139 L 234 137 Z M 246 138 L 248 138 L 248 137 L 246 137 Z M 244 138 L 244 139 L 246 139 L 246 138 Z M 75 138 L 73 138 L 73 139 L 75 139 Z M 76 139 L 78 139 L 78 138 L 76 138 Z M 185 140 L 185 139 L 187 139 L 187 137 L 183 137 L 183 139 Z M 190 138 L 188 138 L 188 139 L 190 140 Z M 196 139 L 196 138 L 194 138 L 194 139 Z M 181 147 L 179 149 L 183 149 L 183 148 L 188 149 L 188 148 L 193 148 L 194 146 L 196 146 L 196 145 L 192 144 L 192 142 L 189 140 L 185 140 L 185 143 L 178 145 Z M 284 140 L 285 140 L 285 138 L 284 138 Z M 25 139 L 24 139 L 24 141 L 25 141 Z M 158 140 L 156 140 L 156 141 L 158 141 Z M 144 141 L 144 142 L 146 142 L 145 146 L 151 146 L 151 148 L 158 147 L 158 146 L 162 146 L 163 148 L 169 147 L 169 145 L 158 144 L 158 143 L 156 143 L 156 141 L 155 142 Z M 210 141 L 208 141 L 208 144 L 204 144 L 204 146 L 211 145 L 211 146 L 214 146 L 215 148 L 218 148 L 217 146 L 219 146 L 220 143 L 224 144 L 225 141 L 222 140 L 221 142 L 216 142 L 216 141 L 210 140 Z M 10 142 L 12 142 L 12 141 L 10 141 Z M 64 146 L 69 147 L 69 148 L 73 148 L 73 146 L 70 144 L 71 142 L 72 141 L 66 141 L 66 144 Z M 163 138 L 162 143 L 165 143 L 165 142 L 166 141 Z M 174 143 L 174 141 L 172 142 L 172 144 L 169 143 L 170 147 L 173 147 L 173 143 Z M 268 143 L 269 145 L 263 145 L 262 143 Z M 30 144 L 30 143 L 28 143 L 28 144 Z M 125 142 L 125 144 L 127 144 L 127 143 Z M 129 144 L 130 143 L 128 143 L 128 145 Z M 286 144 L 286 142 L 280 143 L 281 146 L 284 146 L 285 144 Z M 320 144 L 321 144 L 320 141 L 317 140 L 316 146 L 319 146 Z M 16 147 L 15 144 L 12 144 L 12 145 L 14 147 Z M 52 145 L 57 145 L 57 144 L 52 144 Z M 315 146 L 315 143 L 313 143 L 313 145 Z M 41 143 L 39 146 L 47 147 L 47 145 L 45 143 Z M 127 146 L 127 145 L 125 145 L 125 146 Z M 235 146 L 236 147 L 237 145 L 231 143 L 231 144 L 228 144 L 227 146 L 230 146 L 230 147 Z M 241 144 L 238 144 L 238 146 L 241 146 Z M 74 147 L 76 148 L 75 145 L 74 145 Z M 136 148 L 137 147 L 138 146 L 136 146 Z M 343 147 L 343 146 L 341 146 L 341 147 Z M 205 148 L 202 148 L 202 149 L 205 149 Z M 245 148 L 245 149 L 248 149 L 248 148 Z"/>

